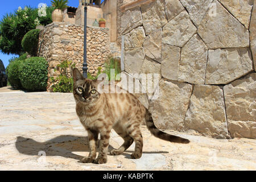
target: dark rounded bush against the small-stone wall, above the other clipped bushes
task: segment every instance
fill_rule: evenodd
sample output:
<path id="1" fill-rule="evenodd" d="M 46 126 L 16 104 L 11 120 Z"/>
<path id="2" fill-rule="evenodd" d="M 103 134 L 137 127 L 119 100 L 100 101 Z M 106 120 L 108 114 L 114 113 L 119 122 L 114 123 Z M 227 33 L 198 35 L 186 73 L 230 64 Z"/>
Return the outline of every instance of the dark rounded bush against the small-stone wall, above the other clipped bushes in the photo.
<path id="1" fill-rule="evenodd" d="M 26 35 L 24 35 L 22 39 L 23 50 L 28 52 L 32 56 L 37 55 L 39 32 L 39 29 L 30 30 L 27 32 Z"/>

